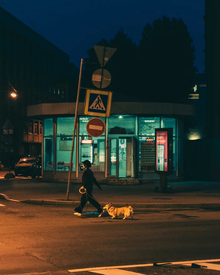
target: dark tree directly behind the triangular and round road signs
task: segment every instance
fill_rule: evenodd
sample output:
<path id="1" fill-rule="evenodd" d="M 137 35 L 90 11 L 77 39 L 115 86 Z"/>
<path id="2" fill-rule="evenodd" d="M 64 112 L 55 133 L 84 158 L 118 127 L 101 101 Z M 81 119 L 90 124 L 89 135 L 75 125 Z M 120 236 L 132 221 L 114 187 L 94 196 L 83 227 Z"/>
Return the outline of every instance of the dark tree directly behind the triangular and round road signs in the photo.
<path id="1" fill-rule="evenodd" d="M 124 34 L 123 30 L 118 31 L 114 39 L 107 42 L 102 39 L 97 45 L 117 48 L 112 58 L 105 66 L 111 76 L 111 84 L 104 90 L 113 91 L 115 100 L 124 95 L 127 97 L 136 97 L 136 91 L 139 85 L 140 63 L 138 59 L 139 48 L 132 40 Z M 93 48 L 88 50 L 89 58 L 85 62 L 98 62 Z M 92 73 L 95 69 L 101 68 L 100 65 L 86 63 L 83 75 L 83 85 L 87 88 L 95 88 L 91 82 Z M 97 88 L 95 88 L 97 89 Z M 126 97 L 124 97 L 126 101 Z"/>

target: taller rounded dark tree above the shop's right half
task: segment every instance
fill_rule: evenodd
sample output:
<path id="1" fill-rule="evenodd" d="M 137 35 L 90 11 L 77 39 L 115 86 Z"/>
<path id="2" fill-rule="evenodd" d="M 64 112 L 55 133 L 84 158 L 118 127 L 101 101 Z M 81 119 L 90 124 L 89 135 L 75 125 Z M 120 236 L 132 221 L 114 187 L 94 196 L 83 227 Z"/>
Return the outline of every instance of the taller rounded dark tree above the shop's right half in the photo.
<path id="1" fill-rule="evenodd" d="M 182 19 L 164 16 L 146 25 L 140 40 L 140 82 L 145 101 L 187 101 L 197 71 L 192 43 Z"/>

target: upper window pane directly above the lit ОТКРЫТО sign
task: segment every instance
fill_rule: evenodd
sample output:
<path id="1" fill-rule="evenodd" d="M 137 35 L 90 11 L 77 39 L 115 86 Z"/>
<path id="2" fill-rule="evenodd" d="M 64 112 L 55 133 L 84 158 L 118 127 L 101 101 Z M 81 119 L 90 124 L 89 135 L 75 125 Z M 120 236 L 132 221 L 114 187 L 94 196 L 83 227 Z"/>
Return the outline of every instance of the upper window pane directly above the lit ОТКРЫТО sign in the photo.
<path id="1" fill-rule="evenodd" d="M 139 135 L 155 135 L 155 128 L 160 128 L 160 118 L 139 118 Z"/>

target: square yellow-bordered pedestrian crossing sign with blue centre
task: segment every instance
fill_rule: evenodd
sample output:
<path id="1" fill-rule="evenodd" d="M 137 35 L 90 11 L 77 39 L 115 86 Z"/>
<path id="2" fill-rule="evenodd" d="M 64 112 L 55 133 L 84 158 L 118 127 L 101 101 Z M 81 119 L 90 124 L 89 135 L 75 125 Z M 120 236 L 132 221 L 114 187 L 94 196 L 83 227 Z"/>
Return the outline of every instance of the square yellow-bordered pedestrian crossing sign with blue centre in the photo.
<path id="1" fill-rule="evenodd" d="M 112 92 L 86 90 L 84 114 L 88 116 L 109 117 Z"/>

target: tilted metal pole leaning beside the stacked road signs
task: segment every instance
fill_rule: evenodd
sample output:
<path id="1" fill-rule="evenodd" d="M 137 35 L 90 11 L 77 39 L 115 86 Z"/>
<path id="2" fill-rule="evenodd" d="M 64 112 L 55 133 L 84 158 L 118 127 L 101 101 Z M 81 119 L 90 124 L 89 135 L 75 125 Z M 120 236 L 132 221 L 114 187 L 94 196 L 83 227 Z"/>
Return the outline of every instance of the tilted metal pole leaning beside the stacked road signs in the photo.
<path id="1" fill-rule="evenodd" d="M 73 127 L 73 140 L 72 140 L 72 148 L 71 148 L 71 156 L 70 156 L 70 164 L 69 164 L 69 177 L 68 177 L 68 185 L 67 185 L 67 193 L 66 193 L 66 200 L 67 201 L 69 200 L 69 184 L 70 184 L 71 173 L 72 173 L 73 149 L 74 149 L 74 141 L 75 141 L 77 116 L 78 116 L 78 106 L 79 106 L 79 99 L 80 99 L 82 67 L 83 67 L 83 58 L 81 58 L 80 76 L 79 76 L 79 84 L 78 84 L 77 99 L 76 99 L 76 110 L 75 110 L 75 119 L 74 119 L 74 127 Z M 77 144 L 77 146 L 79 146 L 79 144 Z"/>

